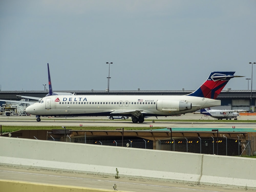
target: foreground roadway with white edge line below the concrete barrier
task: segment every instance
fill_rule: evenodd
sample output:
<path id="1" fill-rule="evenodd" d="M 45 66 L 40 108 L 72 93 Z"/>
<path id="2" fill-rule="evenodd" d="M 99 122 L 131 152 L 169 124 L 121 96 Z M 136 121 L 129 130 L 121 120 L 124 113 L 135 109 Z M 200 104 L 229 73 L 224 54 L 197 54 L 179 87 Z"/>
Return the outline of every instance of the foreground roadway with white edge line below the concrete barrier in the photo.
<path id="1" fill-rule="evenodd" d="M 58 171 L 18 169 L 12 167 L 0 166 L 0 179 L 16 180 L 23 182 L 45 183 L 55 185 L 71 185 L 87 188 L 99 188 L 113 190 L 113 185 L 117 185 L 120 191 L 137 191 L 137 192 L 241 192 L 245 189 L 233 189 L 229 187 L 204 186 L 193 184 L 180 184 L 159 180 L 145 180 L 135 178 L 115 179 L 114 176 L 99 176 L 81 173 L 69 173 Z M 248 191 L 248 189 L 247 189 Z"/>

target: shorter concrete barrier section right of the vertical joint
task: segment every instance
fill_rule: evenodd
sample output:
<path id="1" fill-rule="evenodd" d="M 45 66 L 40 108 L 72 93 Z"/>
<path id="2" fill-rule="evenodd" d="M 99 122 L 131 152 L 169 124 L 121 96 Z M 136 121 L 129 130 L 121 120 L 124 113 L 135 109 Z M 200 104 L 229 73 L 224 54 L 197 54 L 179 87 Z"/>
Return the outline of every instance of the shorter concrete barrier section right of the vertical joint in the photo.
<path id="1" fill-rule="evenodd" d="M 256 159 L 204 155 L 200 184 L 218 183 L 256 187 Z"/>

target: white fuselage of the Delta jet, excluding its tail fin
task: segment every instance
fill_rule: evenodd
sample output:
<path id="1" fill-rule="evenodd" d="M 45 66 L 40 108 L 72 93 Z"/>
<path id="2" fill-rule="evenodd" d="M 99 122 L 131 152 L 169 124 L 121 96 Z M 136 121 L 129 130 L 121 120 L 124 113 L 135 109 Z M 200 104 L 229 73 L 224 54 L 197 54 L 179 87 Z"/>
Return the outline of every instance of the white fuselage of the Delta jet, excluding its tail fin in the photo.
<path id="1" fill-rule="evenodd" d="M 27 107 L 27 113 L 41 116 L 168 116 L 218 106 L 220 100 L 194 96 L 156 95 L 51 95 Z"/>

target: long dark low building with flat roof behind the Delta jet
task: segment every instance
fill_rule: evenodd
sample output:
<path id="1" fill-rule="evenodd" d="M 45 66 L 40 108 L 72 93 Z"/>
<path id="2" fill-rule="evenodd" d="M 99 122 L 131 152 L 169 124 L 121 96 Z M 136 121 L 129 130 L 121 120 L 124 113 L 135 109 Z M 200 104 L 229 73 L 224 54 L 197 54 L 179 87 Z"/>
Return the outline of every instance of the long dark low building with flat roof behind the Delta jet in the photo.
<path id="1" fill-rule="evenodd" d="M 76 95 L 186 95 L 194 91 L 182 90 L 182 91 L 56 91 L 56 92 L 69 92 Z M 45 97 L 47 91 L 0 91 L 0 100 L 13 100 L 19 101 L 21 96 L 28 97 Z M 255 112 L 256 90 L 231 90 L 226 88 L 222 90 L 217 97 L 221 100 L 221 106 L 216 106 L 212 109 L 220 110 L 248 110 Z M 4 101 L 0 101 L 0 106 L 5 104 Z"/>

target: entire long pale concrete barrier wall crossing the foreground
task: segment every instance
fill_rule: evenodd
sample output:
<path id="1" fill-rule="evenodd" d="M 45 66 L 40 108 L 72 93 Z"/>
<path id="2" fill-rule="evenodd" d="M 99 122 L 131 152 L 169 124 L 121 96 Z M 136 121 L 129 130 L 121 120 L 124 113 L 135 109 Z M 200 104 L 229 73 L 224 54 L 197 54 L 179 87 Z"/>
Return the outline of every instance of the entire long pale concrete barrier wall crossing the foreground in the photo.
<path id="1" fill-rule="evenodd" d="M 108 175 L 115 175 L 118 168 L 120 176 L 256 187 L 255 172 L 247 168 L 248 164 L 255 167 L 256 159 L 8 137 L 0 137 L 0 145 L 6 146 L 0 148 L 1 164 Z M 247 173 L 241 174 L 244 169 Z M 233 174 L 235 170 L 240 175 Z M 236 182 L 237 179 L 244 182 Z"/>

